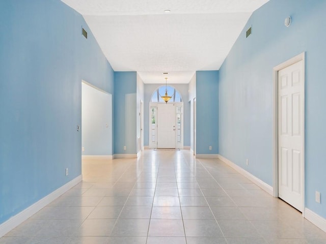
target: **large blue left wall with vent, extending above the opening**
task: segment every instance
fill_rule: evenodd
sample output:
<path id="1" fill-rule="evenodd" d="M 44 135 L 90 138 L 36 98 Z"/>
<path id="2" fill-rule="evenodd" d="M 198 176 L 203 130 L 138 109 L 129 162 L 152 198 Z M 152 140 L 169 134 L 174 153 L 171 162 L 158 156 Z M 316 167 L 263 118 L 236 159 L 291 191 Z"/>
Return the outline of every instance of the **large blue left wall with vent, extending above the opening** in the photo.
<path id="1" fill-rule="evenodd" d="M 1 224 L 82 173 L 82 79 L 113 93 L 114 74 L 61 1 L 0 1 L 0 29 Z"/>

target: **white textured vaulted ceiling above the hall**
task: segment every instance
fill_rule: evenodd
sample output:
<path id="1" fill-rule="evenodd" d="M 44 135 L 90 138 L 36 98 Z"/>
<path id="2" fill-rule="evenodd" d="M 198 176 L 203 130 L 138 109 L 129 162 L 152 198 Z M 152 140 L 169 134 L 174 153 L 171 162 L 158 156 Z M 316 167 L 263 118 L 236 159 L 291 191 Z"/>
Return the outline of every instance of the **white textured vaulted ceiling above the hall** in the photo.
<path id="1" fill-rule="evenodd" d="M 82 14 L 115 71 L 144 83 L 188 83 L 218 70 L 252 12 L 268 0 L 62 0 Z M 165 13 L 164 10 L 171 10 Z"/>

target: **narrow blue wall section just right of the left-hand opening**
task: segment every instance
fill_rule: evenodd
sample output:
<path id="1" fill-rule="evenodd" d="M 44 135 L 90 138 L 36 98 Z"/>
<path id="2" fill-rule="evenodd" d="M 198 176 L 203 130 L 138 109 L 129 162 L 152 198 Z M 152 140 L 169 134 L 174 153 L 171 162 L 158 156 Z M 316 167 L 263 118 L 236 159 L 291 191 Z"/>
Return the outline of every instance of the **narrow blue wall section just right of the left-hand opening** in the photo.
<path id="1" fill-rule="evenodd" d="M 115 72 L 114 76 L 114 154 L 136 154 L 137 73 Z"/>

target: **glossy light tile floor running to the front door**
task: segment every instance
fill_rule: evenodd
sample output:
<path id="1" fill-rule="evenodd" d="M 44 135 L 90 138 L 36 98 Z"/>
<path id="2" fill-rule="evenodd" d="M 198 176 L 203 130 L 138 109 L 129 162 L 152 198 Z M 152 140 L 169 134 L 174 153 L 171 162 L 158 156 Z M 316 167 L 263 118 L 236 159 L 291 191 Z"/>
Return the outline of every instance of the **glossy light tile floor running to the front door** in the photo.
<path id="1" fill-rule="evenodd" d="M 326 243 L 300 212 L 188 150 L 84 161 L 83 178 L 0 243 Z"/>

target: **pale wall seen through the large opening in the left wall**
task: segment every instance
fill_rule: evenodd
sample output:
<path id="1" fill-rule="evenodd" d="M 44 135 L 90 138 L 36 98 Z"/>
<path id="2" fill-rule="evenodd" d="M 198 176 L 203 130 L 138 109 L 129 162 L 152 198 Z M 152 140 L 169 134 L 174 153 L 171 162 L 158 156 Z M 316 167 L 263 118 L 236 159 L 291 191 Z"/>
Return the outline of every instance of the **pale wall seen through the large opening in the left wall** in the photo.
<path id="1" fill-rule="evenodd" d="M 106 127 L 107 125 L 107 127 Z M 112 95 L 82 84 L 82 155 L 112 155 Z"/>

